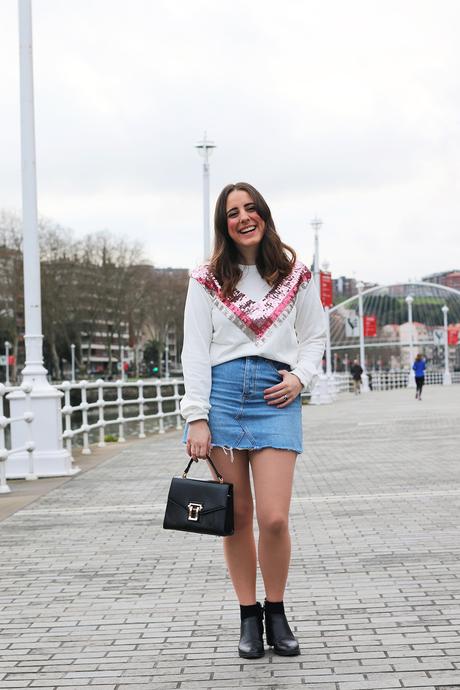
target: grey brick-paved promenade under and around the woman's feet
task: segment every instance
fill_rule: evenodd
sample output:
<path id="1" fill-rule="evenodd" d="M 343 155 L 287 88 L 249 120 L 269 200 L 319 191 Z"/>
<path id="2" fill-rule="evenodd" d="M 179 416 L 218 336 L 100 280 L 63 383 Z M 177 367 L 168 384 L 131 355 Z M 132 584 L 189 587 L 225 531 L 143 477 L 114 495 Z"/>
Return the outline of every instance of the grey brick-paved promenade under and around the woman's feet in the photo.
<path id="1" fill-rule="evenodd" d="M 301 656 L 240 659 L 221 541 L 161 529 L 186 460 L 174 431 L 0 522 L 0 688 L 460 688 L 460 386 L 344 395 L 304 428 L 286 593 Z"/>

